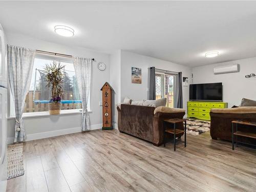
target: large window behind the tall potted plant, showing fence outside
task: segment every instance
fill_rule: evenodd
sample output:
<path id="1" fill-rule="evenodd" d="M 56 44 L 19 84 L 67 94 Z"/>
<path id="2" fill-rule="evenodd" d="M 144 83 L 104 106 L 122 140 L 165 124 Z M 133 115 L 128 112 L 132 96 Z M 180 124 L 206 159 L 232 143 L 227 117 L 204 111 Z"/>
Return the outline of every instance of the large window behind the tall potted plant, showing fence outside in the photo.
<path id="1" fill-rule="evenodd" d="M 48 103 L 51 98 L 51 91 L 46 87 L 45 76 L 42 73 L 46 64 L 53 60 L 60 61 L 63 68 L 63 94 L 61 110 L 79 110 L 82 109 L 82 103 L 79 96 L 75 69 L 71 58 L 59 58 L 46 55 L 36 55 L 34 60 L 30 89 L 26 96 L 24 113 L 48 112 Z M 12 103 L 10 104 L 12 109 Z M 11 116 L 14 111 L 10 112 Z M 26 114 L 25 114 L 26 115 Z"/>

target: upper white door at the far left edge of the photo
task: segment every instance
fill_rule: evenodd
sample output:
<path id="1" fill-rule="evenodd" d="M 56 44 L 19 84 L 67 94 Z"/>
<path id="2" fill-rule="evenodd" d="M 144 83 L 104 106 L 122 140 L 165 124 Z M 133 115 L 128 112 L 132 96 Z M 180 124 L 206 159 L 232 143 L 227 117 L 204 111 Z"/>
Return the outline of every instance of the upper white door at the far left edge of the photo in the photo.
<path id="1" fill-rule="evenodd" d="M 4 30 L 0 24 L 0 86 L 6 87 L 6 50 Z"/>

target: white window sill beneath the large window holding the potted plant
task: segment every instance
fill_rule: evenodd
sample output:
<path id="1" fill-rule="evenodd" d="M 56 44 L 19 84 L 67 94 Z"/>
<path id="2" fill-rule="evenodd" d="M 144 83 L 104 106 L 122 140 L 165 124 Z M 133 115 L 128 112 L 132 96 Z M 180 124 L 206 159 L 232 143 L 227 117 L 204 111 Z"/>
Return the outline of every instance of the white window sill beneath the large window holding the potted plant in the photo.
<path id="1" fill-rule="evenodd" d="M 72 115 L 72 114 L 81 114 L 82 110 L 62 110 L 59 115 Z M 92 113 L 92 111 L 88 111 L 88 113 Z M 30 118 L 30 117 L 47 117 L 47 116 L 58 116 L 58 115 L 50 115 L 49 112 L 32 112 L 32 113 L 24 113 L 22 118 Z M 8 117 L 7 119 L 15 119 L 15 116 Z"/>

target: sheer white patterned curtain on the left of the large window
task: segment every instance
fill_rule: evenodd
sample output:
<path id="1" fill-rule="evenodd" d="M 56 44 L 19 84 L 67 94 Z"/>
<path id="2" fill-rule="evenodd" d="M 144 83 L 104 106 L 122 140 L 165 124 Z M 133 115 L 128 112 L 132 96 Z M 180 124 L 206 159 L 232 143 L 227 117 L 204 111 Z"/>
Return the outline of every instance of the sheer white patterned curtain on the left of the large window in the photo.
<path id="1" fill-rule="evenodd" d="M 8 77 L 15 106 L 14 142 L 24 141 L 26 137 L 22 114 L 26 95 L 29 91 L 35 50 L 7 46 Z"/>

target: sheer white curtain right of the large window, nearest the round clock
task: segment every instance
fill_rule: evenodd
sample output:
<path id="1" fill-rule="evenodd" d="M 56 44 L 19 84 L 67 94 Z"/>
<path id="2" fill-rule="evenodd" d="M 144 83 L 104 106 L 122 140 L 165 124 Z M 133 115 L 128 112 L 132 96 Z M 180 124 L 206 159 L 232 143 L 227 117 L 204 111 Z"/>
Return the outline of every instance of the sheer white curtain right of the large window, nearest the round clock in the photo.
<path id="1" fill-rule="evenodd" d="M 92 59 L 73 57 L 76 73 L 77 85 L 82 100 L 82 125 L 81 131 L 90 129 L 90 120 L 88 114 L 88 101 L 91 90 L 91 66 Z"/>

